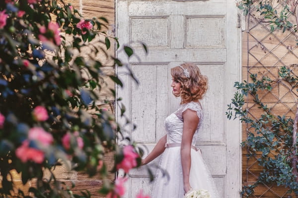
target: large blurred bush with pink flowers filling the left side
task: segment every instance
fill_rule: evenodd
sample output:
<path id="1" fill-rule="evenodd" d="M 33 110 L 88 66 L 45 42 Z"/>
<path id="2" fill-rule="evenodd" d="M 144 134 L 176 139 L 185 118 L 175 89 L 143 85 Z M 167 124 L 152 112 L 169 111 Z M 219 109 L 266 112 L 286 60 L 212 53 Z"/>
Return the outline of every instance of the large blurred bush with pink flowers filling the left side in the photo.
<path id="1" fill-rule="evenodd" d="M 53 168 L 70 161 L 73 170 L 104 177 L 106 151 L 116 154 L 114 171 L 140 165 L 133 146 L 117 146 L 121 132 L 114 116 L 95 103 L 104 77 L 122 86 L 117 76 L 105 76 L 104 63 L 96 59 L 108 54 L 110 39 L 118 43 L 101 30 L 106 25 L 104 18 L 82 18 L 63 0 L 0 1 L 0 197 L 86 197 L 56 180 Z M 88 54 L 81 54 L 86 47 Z M 121 50 L 133 53 L 128 46 Z M 15 185 L 14 170 L 24 185 L 36 181 L 29 195 Z M 124 181 L 100 192 L 120 197 Z"/>

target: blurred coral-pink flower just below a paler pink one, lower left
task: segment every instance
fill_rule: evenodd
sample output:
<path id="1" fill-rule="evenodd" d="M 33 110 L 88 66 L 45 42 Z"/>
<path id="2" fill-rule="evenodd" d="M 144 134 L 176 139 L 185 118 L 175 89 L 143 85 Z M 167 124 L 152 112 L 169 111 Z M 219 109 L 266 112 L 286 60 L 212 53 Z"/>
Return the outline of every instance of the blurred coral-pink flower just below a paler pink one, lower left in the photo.
<path id="1" fill-rule="evenodd" d="M 30 148 L 29 142 L 25 140 L 22 145 L 15 150 L 15 155 L 22 161 L 26 162 L 32 160 L 35 163 L 42 163 L 44 160 L 44 153 L 36 148 Z"/>

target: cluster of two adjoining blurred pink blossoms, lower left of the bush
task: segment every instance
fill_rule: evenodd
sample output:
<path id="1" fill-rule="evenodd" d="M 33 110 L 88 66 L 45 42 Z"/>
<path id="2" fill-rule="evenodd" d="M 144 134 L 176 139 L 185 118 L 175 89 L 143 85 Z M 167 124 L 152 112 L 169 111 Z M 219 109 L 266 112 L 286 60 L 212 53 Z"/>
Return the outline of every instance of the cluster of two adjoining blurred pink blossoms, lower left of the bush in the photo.
<path id="1" fill-rule="evenodd" d="M 42 163 L 44 161 L 44 152 L 29 147 L 30 140 L 37 141 L 43 146 L 49 146 L 54 141 L 53 136 L 41 127 L 33 127 L 28 132 L 28 140 L 23 141 L 22 145 L 15 150 L 15 155 L 22 162 L 32 160 L 35 163 Z"/>

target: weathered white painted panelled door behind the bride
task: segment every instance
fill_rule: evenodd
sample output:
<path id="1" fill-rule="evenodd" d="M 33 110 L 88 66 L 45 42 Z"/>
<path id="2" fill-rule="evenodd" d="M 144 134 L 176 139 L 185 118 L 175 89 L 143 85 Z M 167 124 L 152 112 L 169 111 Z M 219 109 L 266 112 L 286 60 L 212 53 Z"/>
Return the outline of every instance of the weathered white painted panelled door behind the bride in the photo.
<path id="1" fill-rule="evenodd" d="M 138 55 L 127 60 L 119 53 L 118 58 L 129 62 L 139 85 L 123 68 L 117 68 L 124 81 L 118 97 L 123 98 L 129 120 L 137 125 L 136 130 L 128 128 L 132 140 L 151 150 L 165 134 L 163 121 L 180 102 L 171 93 L 170 68 L 194 62 L 209 79 L 202 101 L 205 118 L 196 145 L 202 149 L 222 197 L 239 198 L 240 125 L 228 121 L 224 113 L 240 75 L 235 1 L 116 0 L 116 25 L 120 43 L 131 45 Z M 138 41 L 146 43 L 148 55 Z M 140 189 L 150 194 L 152 189 L 144 167 L 131 171 L 127 184 L 126 198 L 135 198 Z"/>

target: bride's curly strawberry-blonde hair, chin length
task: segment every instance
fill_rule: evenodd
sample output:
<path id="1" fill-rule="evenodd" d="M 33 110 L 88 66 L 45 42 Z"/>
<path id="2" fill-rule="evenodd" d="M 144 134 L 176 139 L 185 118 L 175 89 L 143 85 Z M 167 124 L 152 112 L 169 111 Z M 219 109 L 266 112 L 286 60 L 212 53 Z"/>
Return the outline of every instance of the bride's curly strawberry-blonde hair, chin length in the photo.
<path id="1" fill-rule="evenodd" d="M 180 66 L 188 70 L 189 78 L 185 76 Z M 180 66 L 171 68 L 173 80 L 181 83 L 180 94 L 174 96 L 181 97 L 181 104 L 202 99 L 208 89 L 207 77 L 201 74 L 199 67 L 194 63 L 183 63 Z"/>

